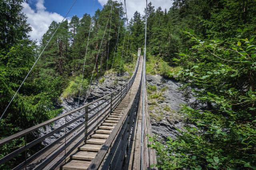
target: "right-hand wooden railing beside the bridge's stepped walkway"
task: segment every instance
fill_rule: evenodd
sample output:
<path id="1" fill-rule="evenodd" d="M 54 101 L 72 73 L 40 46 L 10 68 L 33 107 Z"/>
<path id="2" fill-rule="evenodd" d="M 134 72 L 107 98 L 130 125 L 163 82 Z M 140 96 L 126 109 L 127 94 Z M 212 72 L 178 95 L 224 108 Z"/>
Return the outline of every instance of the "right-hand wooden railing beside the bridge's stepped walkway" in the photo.
<path id="1" fill-rule="evenodd" d="M 131 100 L 132 102 L 128 105 L 126 110 L 124 110 L 122 117 L 98 151 L 96 157 L 92 160 L 88 170 L 120 169 L 120 167 L 122 167 L 122 158 L 124 158 L 124 154 L 126 153 L 130 131 L 134 122 L 136 110 L 138 109 L 140 88 L 141 81 L 136 94 Z"/>

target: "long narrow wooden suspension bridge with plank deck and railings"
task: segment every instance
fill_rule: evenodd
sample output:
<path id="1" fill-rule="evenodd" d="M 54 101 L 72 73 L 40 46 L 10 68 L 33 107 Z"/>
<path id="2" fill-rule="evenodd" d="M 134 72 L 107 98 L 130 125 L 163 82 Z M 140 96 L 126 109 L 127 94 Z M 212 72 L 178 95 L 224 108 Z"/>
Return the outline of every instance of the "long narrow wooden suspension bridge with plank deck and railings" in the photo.
<path id="1" fill-rule="evenodd" d="M 2 157 L 4 164 L 24 155 L 18 169 L 107 170 L 151 169 L 156 163 L 147 135 L 151 134 L 146 98 L 145 58 L 140 55 L 130 80 L 117 90 L 91 103 L 59 115 L 0 140 L 0 146 L 23 137 L 25 145 Z M 74 119 L 68 121 L 67 116 Z M 58 120 L 65 124 L 33 141 L 26 139 L 36 131 Z M 72 129 L 67 127 L 79 122 Z M 60 131 L 64 135 L 36 153 L 28 150 Z M 75 133 L 74 133 L 75 132 Z"/>

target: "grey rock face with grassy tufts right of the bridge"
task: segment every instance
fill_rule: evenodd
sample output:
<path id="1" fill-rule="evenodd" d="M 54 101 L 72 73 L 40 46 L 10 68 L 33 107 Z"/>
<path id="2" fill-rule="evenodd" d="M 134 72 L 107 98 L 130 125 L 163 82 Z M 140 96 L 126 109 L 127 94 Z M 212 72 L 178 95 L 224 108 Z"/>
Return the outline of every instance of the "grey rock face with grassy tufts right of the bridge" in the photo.
<path id="1" fill-rule="evenodd" d="M 184 92 L 179 88 L 181 83 L 176 80 L 166 79 L 160 75 L 147 75 L 148 85 L 156 86 L 157 90 L 149 93 L 148 90 L 148 111 L 152 133 L 158 140 L 166 141 L 167 137 L 175 138 L 178 129 L 182 129 L 182 118 L 185 115 L 178 113 L 182 104 L 188 103 L 184 97 Z M 158 94 L 158 96 L 154 96 Z M 190 97 L 190 101 L 194 100 Z"/>

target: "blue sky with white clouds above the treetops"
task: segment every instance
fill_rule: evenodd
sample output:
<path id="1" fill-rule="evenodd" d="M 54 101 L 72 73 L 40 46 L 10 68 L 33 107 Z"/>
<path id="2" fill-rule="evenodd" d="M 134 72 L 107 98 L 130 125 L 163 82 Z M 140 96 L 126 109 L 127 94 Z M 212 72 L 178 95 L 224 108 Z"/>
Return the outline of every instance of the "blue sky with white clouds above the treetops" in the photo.
<path id="1" fill-rule="evenodd" d="M 124 0 L 118 0 L 118 2 L 124 4 Z M 153 6 L 158 8 L 162 7 L 162 10 L 172 6 L 172 0 L 148 0 L 152 2 Z M 28 3 L 22 3 L 23 12 L 28 17 L 27 22 L 32 27 L 32 31 L 29 33 L 30 39 L 39 41 L 48 30 L 48 27 L 52 21 L 60 22 L 70 9 L 74 0 L 28 0 Z M 77 0 L 70 13 L 67 16 L 68 21 L 72 16 L 77 15 L 79 18 L 85 13 L 94 15 L 94 12 L 106 4 L 107 0 Z M 132 18 L 135 11 L 144 14 L 144 8 L 146 7 L 146 0 L 126 0 L 127 16 L 128 20 Z"/>

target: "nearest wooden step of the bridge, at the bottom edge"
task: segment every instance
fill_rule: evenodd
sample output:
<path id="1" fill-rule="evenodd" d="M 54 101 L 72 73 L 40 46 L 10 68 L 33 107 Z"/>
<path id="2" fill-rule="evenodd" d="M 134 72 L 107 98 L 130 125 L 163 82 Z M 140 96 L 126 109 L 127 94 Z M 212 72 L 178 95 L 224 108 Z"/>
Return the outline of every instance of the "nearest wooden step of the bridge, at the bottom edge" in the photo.
<path id="1" fill-rule="evenodd" d="M 91 161 L 85 160 L 71 160 L 70 162 L 66 163 L 62 166 L 62 170 L 86 170 Z"/>

